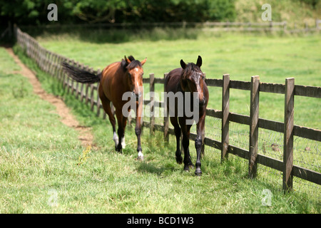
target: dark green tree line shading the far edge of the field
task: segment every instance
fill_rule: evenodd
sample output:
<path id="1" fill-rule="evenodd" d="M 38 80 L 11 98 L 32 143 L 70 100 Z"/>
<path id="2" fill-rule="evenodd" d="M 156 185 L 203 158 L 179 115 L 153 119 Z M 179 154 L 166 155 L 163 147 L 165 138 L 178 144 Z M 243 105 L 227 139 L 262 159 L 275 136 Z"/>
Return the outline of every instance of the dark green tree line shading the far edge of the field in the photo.
<path id="1" fill-rule="evenodd" d="M 233 21 L 235 0 L 0 0 L 1 24 L 44 25 L 49 4 L 58 24 Z"/>

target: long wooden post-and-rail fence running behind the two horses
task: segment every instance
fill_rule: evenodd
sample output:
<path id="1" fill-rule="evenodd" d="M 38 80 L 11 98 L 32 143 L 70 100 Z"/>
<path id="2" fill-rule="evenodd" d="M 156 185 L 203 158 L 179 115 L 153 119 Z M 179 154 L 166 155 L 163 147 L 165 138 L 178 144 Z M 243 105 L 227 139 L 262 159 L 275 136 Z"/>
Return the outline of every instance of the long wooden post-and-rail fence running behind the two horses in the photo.
<path id="1" fill-rule="evenodd" d="M 54 76 L 63 83 L 68 93 L 76 95 L 82 102 L 86 104 L 90 103 L 91 110 L 96 111 L 97 115 L 100 115 L 102 105 L 98 98 L 98 93 L 95 92 L 98 88 L 98 84 L 82 84 L 71 79 L 63 73 L 61 68 L 61 62 L 67 61 L 68 63 L 78 66 L 78 68 L 86 69 L 91 73 L 98 73 L 99 70 L 94 71 L 93 68 L 83 66 L 81 63 L 76 63 L 66 57 L 60 56 L 56 53 L 46 50 L 41 47 L 39 43 L 29 36 L 27 33 L 21 32 L 19 28 L 16 28 L 16 38 L 19 46 L 25 49 L 26 54 L 33 58 L 39 67 Z M 154 74 L 150 74 L 149 78 L 143 78 L 143 83 L 149 83 L 150 92 L 155 91 L 156 83 L 164 83 L 164 78 L 155 78 Z M 283 190 L 287 192 L 292 189 L 292 178 L 299 177 L 309 182 L 314 182 L 317 185 L 321 185 L 321 173 L 313 170 L 308 170 L 304 167 L 293 165 L 293 137 L 298 136 L 300 138 L 307 138 L 321 142 L 321 130 L 305 128 L 302 126 L 294 125 L 293 109 L 294 109 L 294 97 L 295 95 L 321 98 L 321 87 L 313 86 L 298 86 L 295 85 L 294 78 L 286 78 L 285 84 L 275 83 L 260 83 L 259 76 L 253 76 L 250 82 L 247 81 L 231 81 L 228 74 L 223 75 L 222 79 L 210 79 L 206 78 L 205 82 L 208 86 L 214 86 L 222 88 L 222 110 L 215 110 L 208 108 L 206 115 L 213 118 L 221 119 L 221 140 L 214 140 L 212 138 L 203 137 L 204 145 L 208 147 L 214 147 L 221 151 L 221 160 L 228 158 L 229 154 L 238 155 L 248 160 L 248 175 L 253 178 L 257 174 L 257 165 L 265 165 L 275 170 L 279 170 L 283 173 Z M 230 88 L 239 90 L 248 90 L 250 93 L 250 115 L 240 115 L 238 113 L 230 113 Z M 284 122 L 276 122 L 272 120 L 266 120 L 259 118 L 259 96 L 260 92 L 265 93 L 281 93 L 285 95 L 285 115 Z M 96 95 L 95 95 L 96 94 Z M 144 104 L 150 104 L 151 107 L 163 107 L 163 103 L 157 100 L 144 100 Z M 96 107 L 96 110 L 95 110 Z M 102 109 L 103 110 L 103 109 Z M 152 111 L 152 110 L 151 110 Z M 106 113 L 103 111 L 103 118 L 106 118 Z M 245 150 L 229 143 L 229 125 L 230 122 L 240 123 L 243 125 L 249 125 L 250 145 L 248 150 Z M 169 128 L 169 118 L 165 117 L 163 125 L 155 123 L 155 117 L 151 115 L 150 121 L 144 121 L 143 127 L 150 128 L 151 132 L 154 130 L 162 131 L 164 133 L 165 140 L 168 140 L 168 135 L 174 135 L 173 128 Z M 272 130 L 278 133 L 284 134 L 284 151 L 283 160 L 277 160 L 272 157 L 258 154 L 258 129 L 263 128 Z M 190 139 L 195 140 L 196 135 L 190 133 Z"/>

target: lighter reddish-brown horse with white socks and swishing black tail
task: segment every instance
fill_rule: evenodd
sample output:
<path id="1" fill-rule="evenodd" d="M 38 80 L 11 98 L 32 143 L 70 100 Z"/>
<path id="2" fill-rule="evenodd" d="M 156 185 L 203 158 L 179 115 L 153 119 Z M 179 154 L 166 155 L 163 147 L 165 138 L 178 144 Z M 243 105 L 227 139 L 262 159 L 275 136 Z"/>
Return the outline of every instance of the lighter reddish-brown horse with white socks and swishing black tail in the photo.
<path id="1" fill-rule="evenodd" d="M 120 62 L 111 63 L 106 66 L 98 75 L 75 68 L 68 63 L 62 63 L 63 69 L 68 73 L 68 76 L 80 83 L 99 83 L 98 94 L 101 98 L 103 109 L 108 115 L 108 118 L 113 126 L 113 140 L 115 142 L 115 149 L 122 152 L 125 147 L 125 128 L 127 124 L 126 113 L 123 112 L 123 107 L 131 98 L 123 99 L 123 95 L 127 92 L 133 95 L 136 107 L 136 128 L 137 136 L 137 152 L 138 159 L 143 160 L 143 153 L 141 150 L 141 110 L 143 107 L 143 61 L 138 61 L 133 56 L 123 59 Z M 116 118 L 118 122 L 118 130 L 116 134 L 116 120 L 111 110 L 111 103 L 115 107 Z M 127 106 L 126 106 L 127 107 Z M 130 111 L 133 105 L 126 108 Z M 127 114 L 128 114 L 127 112 Z M 121 140 L 119 140 L 121 139 Z"/>

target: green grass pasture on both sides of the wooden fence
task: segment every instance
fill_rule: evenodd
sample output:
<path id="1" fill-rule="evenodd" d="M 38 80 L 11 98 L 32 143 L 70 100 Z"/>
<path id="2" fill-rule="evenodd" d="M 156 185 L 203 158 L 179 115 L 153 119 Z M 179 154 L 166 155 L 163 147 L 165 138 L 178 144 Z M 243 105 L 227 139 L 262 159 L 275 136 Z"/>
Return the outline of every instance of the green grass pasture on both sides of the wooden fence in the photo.
<path id="1" fill-rule="evenodd" d="M 106 34 L 99 36 L 103 35 Z M 249 81 L 250 76 L 260 75 L 263 82 L 284 83 L 285 78 L 292 76 L 296 84 L 321 84 L 319 35 L 192 35 L 157 40 L 133 36 L 133 42 L 121 43 L 84 41 L 70 34 L 38 39 L 45 48 L 93 68 L 102 69 L 123 55 L 132 54 L 140 60 L 148 57 L 144 66 L 146 76 L 155 73 L 156 77 L 163 77 L 163 73 L 179 66 L 180 58 L 195 62 L 200 55 L 208 78 L 221 78 L 223 73 L 230 73 L 233 80 Z M 44 89 L 61 96 L 81 125 L 92 127 L 94 146 L 88 150 L 87 160 L 77 165 L 86 148 L 81 147 L 75 131 L 59 122 L 52 105 L 32 94 L 31 85 L 14 73 L 14 62 L 3 48 L 0 50 L 1 58 L 8 61 L 0 63 L 0 115 L 1 129 L 4 129 L 0 133 L 1 212 L 320 213 L 320 191 L 312 190 L 311 194 L 302 189 L 284 195 L 281 187 L 274 185 L 280 177 L 259 175 L 249 180 L 247 162 L 230 156 L 221 164 L 218 150 L 205 148 L 202 177 L 183 172 L 182 165 L 175 163 L 172 136 L 165 143 L 161 133 L 150 135 L 149 130 L 144 130 L 145 160 L 139 162 L 135 160 L 136 135 L 133 128 L 127 128 L 127 146 L 123 155 L 119 155 L 114 151 L 111 125 L 66 94 L 54 78 L 41 72 L 16 48 L 19 57 L 36 71 Z M 19 93 L 14 92 L 14 88 Z M 221 108 L 220 99 L 215 99 L 218 94 L 220 90 L 210 91 L 209 108 Z M 263 94 L 261 99 L 260 116 L 282 121 L 283 96 Z M 249 93 L 232 90 L 230 111 L 248 115 L 248 100 Z M 295 100 L 295 107 L 304 107 L 295 110 L 296 125 L 320 128 L 320 100 L 299 98 Z M 208 119 L 210 121 L 214 126 L 215 120 Z M 219 123 L 216 124 L 214 128 L 220 128 Z M 210 134 L 208 128 L 206 132 Z M 247 139 L 237 140 L 248 143 Z M 193 142 L 190 148 L 195 162 Z M 320 166 L 320 160 L 316 162 Z M 262 202 L 266 189 L 272 192 L 269 207 Z M 58 196 L 58 204 L 54 206 L 48 203 L 52 190 Z"/>

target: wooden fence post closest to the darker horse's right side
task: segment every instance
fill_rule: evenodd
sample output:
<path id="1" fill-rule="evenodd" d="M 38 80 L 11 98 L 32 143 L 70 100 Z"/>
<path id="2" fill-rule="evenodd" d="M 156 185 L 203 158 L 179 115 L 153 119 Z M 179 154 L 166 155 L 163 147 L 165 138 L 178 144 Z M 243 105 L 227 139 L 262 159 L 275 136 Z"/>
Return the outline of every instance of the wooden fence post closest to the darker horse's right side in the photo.
<path id="1" fill-rule="evenodd" d="M 222 86 L 222 151 L 221 162 L 228 159 L 228 141 L 229 141 L 229 123 L 228 115 L 230 113 L 230 75 L 223 75 Z"/>

